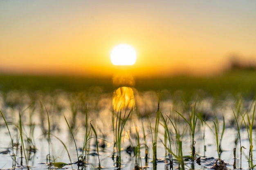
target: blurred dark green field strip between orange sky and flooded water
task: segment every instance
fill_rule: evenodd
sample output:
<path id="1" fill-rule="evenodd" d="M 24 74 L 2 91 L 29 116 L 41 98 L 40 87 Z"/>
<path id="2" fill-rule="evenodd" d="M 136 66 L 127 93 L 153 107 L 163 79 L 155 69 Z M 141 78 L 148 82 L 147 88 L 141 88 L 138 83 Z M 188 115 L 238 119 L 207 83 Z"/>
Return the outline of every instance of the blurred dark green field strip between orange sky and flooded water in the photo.
<path id="1" fill-rule="evenodd" d="M 0 75 L 0 91 L 43 91 L 61 89 L 68 92 L 88 91 L 99 86 L 103 93 L 111 93 L 115 87 L 112 77 L 71 77 L 71 76 L 35 76 L 35 75 Z M 256 93 L 256 71 L 235 70 L 211 77 L 135 77 L 138 91 L 167 90 L 171 94 L 177 91 L 189 97 L 191 95 L 209 95 L 222 97 L 227 94 L 242 95 L 253 99 Z"/>

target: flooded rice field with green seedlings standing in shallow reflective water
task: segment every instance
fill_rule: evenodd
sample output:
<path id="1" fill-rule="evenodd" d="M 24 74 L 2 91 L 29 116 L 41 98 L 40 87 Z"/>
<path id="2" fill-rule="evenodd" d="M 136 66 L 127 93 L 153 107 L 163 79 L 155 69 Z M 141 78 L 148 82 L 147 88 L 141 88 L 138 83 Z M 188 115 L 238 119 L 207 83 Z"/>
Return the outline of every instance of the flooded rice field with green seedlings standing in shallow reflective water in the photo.
<path id="1" fill-rule="evenodd" d="M 1 91 L 0 169 L 254 168 L 254 98 L 131 89 Z"/>

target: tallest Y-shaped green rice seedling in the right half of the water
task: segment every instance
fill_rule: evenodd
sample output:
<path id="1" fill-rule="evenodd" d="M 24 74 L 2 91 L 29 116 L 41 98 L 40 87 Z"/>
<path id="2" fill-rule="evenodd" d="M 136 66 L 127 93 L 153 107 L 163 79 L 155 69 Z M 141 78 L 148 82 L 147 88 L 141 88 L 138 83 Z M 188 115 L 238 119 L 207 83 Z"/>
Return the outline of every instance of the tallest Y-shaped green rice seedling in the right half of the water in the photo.
<path id="1" fill-rule="evenodd" d="M 191 134 L 191 159 L 192 161 L 195 160 L 195 126 L 197 122 L 197 114 L 195 112 L 196 100 L 193 109 L 191 108 L 191 113 L 189 115 L 189 119 L 186 119 L 181 113 L 177 112 L 189 125 L 190 134 Z"/>

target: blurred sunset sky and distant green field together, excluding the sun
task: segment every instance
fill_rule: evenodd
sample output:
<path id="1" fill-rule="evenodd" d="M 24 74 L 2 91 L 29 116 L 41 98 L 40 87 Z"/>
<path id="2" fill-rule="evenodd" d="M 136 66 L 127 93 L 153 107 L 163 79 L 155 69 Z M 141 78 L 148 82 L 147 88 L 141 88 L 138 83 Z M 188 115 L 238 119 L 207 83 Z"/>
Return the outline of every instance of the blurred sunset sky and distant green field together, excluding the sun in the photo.
<path id="1" fill-rule="evenodd" d="M 256 1 L 0 1 L 0 91 L 117 88 L 210 95 L 256 88 Z M 114 66 L 118 44 L 137 54 Z"/>

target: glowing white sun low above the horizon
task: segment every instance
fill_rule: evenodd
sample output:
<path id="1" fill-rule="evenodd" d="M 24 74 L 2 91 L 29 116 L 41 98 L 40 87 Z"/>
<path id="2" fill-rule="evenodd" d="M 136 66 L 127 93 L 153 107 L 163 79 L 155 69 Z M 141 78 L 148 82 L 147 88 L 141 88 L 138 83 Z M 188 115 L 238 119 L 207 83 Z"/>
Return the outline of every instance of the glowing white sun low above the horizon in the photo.
<path id="1" fill-rule="evenodd" d="M 136 52 L 132 46 L 120 44 L 112 50 L 110 58 L 114 65 L 133 65 L 136 62 Z"/>

